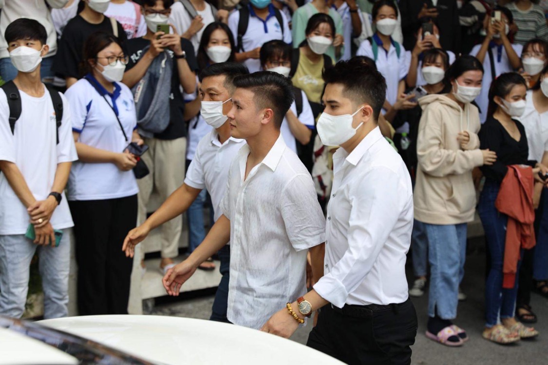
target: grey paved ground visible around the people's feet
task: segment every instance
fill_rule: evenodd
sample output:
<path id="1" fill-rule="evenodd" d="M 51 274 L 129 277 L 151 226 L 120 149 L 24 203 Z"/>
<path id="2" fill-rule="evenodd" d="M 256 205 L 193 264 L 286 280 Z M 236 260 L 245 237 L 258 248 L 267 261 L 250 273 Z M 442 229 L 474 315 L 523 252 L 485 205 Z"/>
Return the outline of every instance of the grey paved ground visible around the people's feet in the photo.
<path id="1" fill-rule="evenodd" d="M 413 346 L 413 364 L 548 364 L 548 299 L 538 294 L 532 294 L 532 306 L 539 317 L 539 322 L 535 325 L 540 331 L 538 339 L 500 346 L 481 337 L 485 254 L 481 239 L 471 242 L 469 246 L 471 252 L 467 255 L 466 275 L 462 286 L 468 299 L 459 304 L 459 317 L 455 323 L 467 330 L 470 341 L 455 349 L 427 339 L 424 336 L 427 294 L 422 298 L 414 298 L 413 303 L 419 316 L 419 332 Z M 410 273 L 408 277 L 411 277 Z M 208 319 L 212 303 L 211 291 L 193 292 L 178 302 L 164 298 L 157 300 L 152 314 Z M 299 329 L 292 340 L 306 343 L 311 329 L 310 326 L 307 327 Z"/>

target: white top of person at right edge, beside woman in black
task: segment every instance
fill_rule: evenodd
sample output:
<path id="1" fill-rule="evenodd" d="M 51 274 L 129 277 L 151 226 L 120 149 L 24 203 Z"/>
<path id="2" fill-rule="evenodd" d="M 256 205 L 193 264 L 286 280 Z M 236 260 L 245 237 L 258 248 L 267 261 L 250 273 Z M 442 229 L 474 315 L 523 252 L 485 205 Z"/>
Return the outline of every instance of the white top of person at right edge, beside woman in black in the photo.
<path id="1" fill-rule="evenodd" d="M 533 104 L 533 90 L 527 91 L 525 112 L 517 118 L 525 128 L 529 146 L 529 160 L 542 161 L 548 151 L 548 112 L 539 114 Z"/>

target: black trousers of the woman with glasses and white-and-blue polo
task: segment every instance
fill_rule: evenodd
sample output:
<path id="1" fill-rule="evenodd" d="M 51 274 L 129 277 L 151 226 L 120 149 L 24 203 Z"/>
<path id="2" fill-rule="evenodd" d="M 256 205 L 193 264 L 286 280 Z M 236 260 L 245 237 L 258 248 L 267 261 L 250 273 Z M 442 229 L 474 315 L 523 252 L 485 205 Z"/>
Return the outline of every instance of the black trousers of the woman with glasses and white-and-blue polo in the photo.
<path id="1" fill-rule="evenodd" d="M 127 314 L 133 259 L 122 244 L 137 222 L 137 195 L 70 201 L 78 264 L 78 313 Z"/>

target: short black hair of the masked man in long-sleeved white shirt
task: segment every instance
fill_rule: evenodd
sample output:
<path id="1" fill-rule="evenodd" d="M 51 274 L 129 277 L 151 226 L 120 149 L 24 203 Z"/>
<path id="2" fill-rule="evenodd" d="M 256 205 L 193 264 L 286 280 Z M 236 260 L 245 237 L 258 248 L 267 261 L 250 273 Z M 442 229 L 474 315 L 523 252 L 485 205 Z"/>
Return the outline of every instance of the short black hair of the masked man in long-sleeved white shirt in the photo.
<path id="1" fill-rule="evenodd" d="M 368 103 L 373 108 L 373 117 L 378 120 L 386 100 L 386 80 L 375 68 L 362 59 L 339 61 L 323 71 L 327 84 L 343 85 L 343 94 L 352 101 Z"/>

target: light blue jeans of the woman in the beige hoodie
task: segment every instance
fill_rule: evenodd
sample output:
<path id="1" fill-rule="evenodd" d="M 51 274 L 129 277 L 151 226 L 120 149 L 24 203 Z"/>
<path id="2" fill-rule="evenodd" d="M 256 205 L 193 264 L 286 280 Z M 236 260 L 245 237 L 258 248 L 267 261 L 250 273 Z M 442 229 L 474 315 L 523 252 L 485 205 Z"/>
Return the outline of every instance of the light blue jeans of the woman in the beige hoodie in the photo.
<path id="1" fill-rule="evenodd" d="M 424 223 L 430 261 L 428 315 L 436 312 L 444 320 L 456 318 L 459 285 L 464 277 L 466 260 L 466 223 Z"/>

